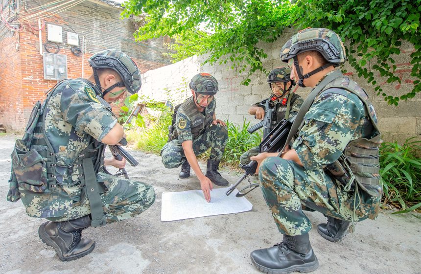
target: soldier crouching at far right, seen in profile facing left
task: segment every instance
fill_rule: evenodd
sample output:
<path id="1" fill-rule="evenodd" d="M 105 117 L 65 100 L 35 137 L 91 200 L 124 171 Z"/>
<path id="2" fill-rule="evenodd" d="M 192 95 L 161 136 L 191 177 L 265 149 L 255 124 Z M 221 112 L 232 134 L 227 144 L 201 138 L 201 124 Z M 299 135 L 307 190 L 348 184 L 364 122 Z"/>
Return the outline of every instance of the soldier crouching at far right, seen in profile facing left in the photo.
<path id="1" fill-rule="evenodd" d="M 335 69 L 346 60 L 336 33 L 305 29 L 282 47 L 281 60 L 288 63 L 291 78 L 299 86 L 313 87 L 310 98 L 317 95 L 314 101 L 310 99 L 312 105 L 292 149 L 281 157 L 269 153 L 252 157 L 260 164 L 263 197 L 283 240 L 253 251 L 251 259 L 265 273 L 311 272 L 318 268 L 318 260 L 310 245 L 311 223 L 302 203 L 327 215 L 327 224 L 317 230 L 332 242 L 346 234 L 350 222 L 374 219 L 382 194 L 378 174 L 381 139 L 366 92 Z M 300 110 L 297 117 L 304 112 Z"/>

